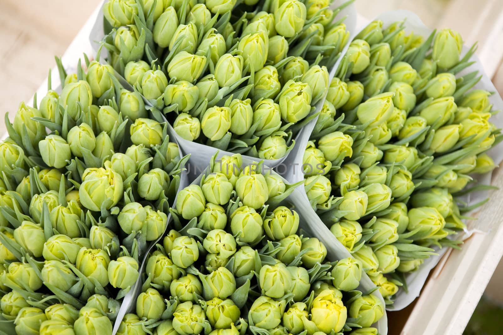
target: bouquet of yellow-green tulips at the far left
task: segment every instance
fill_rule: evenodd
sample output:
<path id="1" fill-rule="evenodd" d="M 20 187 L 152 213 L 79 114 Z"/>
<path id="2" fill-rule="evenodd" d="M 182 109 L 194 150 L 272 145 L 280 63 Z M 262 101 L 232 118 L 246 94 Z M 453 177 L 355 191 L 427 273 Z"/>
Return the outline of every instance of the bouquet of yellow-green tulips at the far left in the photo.
<path id="1" fill-rule="evenodd" d="M 87 73 L 80 62 L 76 74 L 61 70 L 60 93 L 49 80 L 40 105 L 22 102 L 13 124 L 6 116 L 0 309 L 10 333 L 111 334 L 188 159 L 139 93 L 86 61 Z"/>

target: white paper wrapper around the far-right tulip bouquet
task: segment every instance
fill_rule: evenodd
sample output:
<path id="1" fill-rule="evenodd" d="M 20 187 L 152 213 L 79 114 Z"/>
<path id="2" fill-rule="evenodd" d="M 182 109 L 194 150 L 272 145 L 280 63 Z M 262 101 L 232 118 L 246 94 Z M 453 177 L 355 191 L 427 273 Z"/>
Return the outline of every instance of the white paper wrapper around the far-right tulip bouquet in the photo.
<path id="1" fill-rule="evenodd" d="M 422 35 L 426 38 L 432 33 L 433 29 L 430 29 L 425 26 L 425 24 L 421 21 L 420 18 L 417 17 L 412 12 L 409 11 L 391 11 L 391 12 L 386 12 L 384 14 L 379 15 L 376 17 L 374 20 L 381 20 L 383 21 L 383 27 L 387 27 L 391 23 L 394 23 L 396 21 L 403 21 L 405 20 L 405 31 L 406 33 L 411 33 L 413 32 L 415 35 Z M 368 22 L 364 22 L 363 26 L 359 27 L 357 29 L 356 34 L 352 34 L 354 37 L 357 35 L 365 26 L 368 24 Z M 470 48 L 467 46 L 463 47 L 462 51 L 462 56 L 468 52 Z M 473 71 L 478 71 L 479 75 L 482 74 L 483 77 L 482 79 L 474 86 L 473 89 L 484 89 L 487 91 L 491 92 L 497 92 L 496 88 L 492 84 L 490 78 L 484 73 L 484 69 L 482 67 L 482 64 L 480 63 L 480 60 L 478 57 L 473 56 L 471 61 L 475 61 L 473 65 L 470 67 L 464 69 L 462 72 L 460 72 L 457 77 L 463 76 L 469 72 Z M 501 100 L 501 97 L 495 93 L 489 97 L 489 100 L 491 101 L 492 104 L 494 104 L 493 109 L 495 110 L 503 110 L 503 100 Z M 502 128 L 503 127 L 503 115 L 501 113 L 496 114 L 493 116 L 490 121 L 496 125 L 497 128 Z M 314 127 L 314 126 L 313 126 Z M 313 127 L 310 128 L 310 131 L 312 132 Z M 306 137 L 305 142 L 303 143 L 303 150 L 300 150 L 300 143 L 298 147 L 298 152 L 295 153 L 295 155 L 292 153 L 290 157 L 292 157 L 291 162 L 291 168 L 289 166 L 288 173 L 286 174 L 287 179 L 290 182 L 297 182 L 300 180 L 304 179 L 304 175 L 302 173 L 302 156 L 304 154 L 304 150 L 307 144 L 307 141 L 310 137 L 310 135 L 307 135 L 307 131 L 303 133 L 303 136 Z M 503 143 L 499 143 L 497 146 L 492 148 L 491 150 L 488 151 L 488 154 L 492 157 L 494 162 L 496 164 L 499 164 L 503 160 Z M 289 157 L 289 158 L 290 158 Z M 280 173 L 282 171 L 279 171 Z M 483 176 L 477 175 L 474 176 L 479 183 L 481 184 L 490 184 L 491 183 L 491 173 L 487 173 Z M 299 193 L 301 193 L 301 196 L 305 199 L 307 199 L 306 193 L 302 189 L 298 189 Z M 479 192 L 473 192 L 468 194 L 466 197 L 464 197 L 464 200 L 469 204 L 475 204 L 479 201 L 484 200 L 487 198 L 488 192 L 487 191 L 479 191 Z M 314 212 L 314 211 L 313 211 Z M 314 213 L 313 213 L 314 214 Z M 468 216 L 473 215 L 474 213 L 468 213 Z M 330 234 L 328 229 L 326 229 L 325 225 L 321 222 L 321 229 L 325 228 L 325 234 Z M 458 238 L 460 239 L 466 239 L 468 238 L 473 231 L 483 231 L 483 232 L 489 232 L 491 229 L 491 222 L 478 222 L 478 221 L 471 221 L 468 224 L 468 229 L 462 233 L 460 233 L 460 236 Z M 335 241 L 339 243 L 337 240 Z M 423 288 L 428 275 L 430 271 L 438 264 L 440 261 L 440 258 L 445 254 L 447 251 L 447 248 L 444 248 L 442 250 L 437 249 L 437 256 L 432 256 L 429 259 L 425 260 L 423 265 L 421 265 L 420 269 L 416 272 L 412 272 L 407 274 L 406 276 L 406 282 L 407 282 L 407 288 L 408 292 L 405 292 L 405 290 L 400 289 L 398 293 L 396 294 L 396 300 L 391 305 L 388 307 L 388 310 L 400 310 L 408 306 L 414 299 L 419 296 L 421 289 Z"/>

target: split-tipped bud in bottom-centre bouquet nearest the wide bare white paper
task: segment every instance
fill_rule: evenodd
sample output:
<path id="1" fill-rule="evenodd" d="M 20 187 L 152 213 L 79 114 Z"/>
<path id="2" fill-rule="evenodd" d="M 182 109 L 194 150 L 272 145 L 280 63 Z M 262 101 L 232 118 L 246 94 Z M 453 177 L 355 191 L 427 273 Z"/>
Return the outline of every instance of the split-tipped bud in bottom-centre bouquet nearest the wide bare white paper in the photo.
<path id="1" fill-rule="evenodd" d="M 299 214 L 285 206 L 277 207 L 273 211 L 272 217 L 264 221 L 266 235 L 273 241 L 297 233 L 298 228 Z"/>

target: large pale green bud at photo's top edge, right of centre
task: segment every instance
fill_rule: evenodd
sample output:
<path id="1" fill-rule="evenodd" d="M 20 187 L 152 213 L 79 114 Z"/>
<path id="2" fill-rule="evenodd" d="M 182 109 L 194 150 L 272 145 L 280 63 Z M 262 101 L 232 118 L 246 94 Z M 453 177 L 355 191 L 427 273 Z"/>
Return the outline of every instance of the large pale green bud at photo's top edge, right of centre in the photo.
<path id="1" fill-rule="evenodd" d="M 284 37 L 293 37 L 304 27 L 306 6 L 297 0 L 286 0 L 274 11 L 276 31 Z"/>

